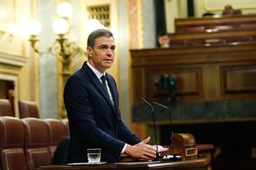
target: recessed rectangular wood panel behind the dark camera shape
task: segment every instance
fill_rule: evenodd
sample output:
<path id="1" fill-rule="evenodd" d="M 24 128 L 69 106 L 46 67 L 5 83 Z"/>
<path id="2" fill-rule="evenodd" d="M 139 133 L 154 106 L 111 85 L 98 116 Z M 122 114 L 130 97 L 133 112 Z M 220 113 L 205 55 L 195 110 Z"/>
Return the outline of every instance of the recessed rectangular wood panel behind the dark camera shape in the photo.
<path id="1" fill-rule="evenodd" d="M 166 87 L 156 86 L 154 79 L 170 74 L 177 75 L 178 83 L 176 91 L 178 96 L 182 96 L 183 100 L 202 99 L 202 69 L 199 66 L 164 66 L 154 69 L 146 69 L 145 97 L 147 99 L 162 101 L 169 98 L 170 91 Z"/>

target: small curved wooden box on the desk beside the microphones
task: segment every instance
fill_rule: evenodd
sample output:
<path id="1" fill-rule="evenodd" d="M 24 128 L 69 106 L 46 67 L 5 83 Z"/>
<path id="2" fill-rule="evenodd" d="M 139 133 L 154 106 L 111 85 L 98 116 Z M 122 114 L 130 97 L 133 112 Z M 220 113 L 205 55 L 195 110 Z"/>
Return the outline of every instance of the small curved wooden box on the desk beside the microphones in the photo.
<path id="1" fill-rule="evenodd" d="M 172 134 L 168 151 L 159 153 L 160 157 L 180 155 L 181 160 L 197 159 L 197 144 L 193 134 Z"/>

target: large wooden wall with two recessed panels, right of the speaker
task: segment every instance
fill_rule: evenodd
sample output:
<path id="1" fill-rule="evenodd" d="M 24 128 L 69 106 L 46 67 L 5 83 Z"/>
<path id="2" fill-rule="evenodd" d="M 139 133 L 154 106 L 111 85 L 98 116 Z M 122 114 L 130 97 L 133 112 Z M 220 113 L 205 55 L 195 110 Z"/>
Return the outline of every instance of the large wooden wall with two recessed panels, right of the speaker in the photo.
<path id="1" fill-rule="evenodd" d="M 172 49 L 138 49 L 132 53 L 135 103 L 140 97 L 169 103 L 167 87 L 154 79 L 178 76 L 179 102 L 256 99 L 256 44 Z"/>

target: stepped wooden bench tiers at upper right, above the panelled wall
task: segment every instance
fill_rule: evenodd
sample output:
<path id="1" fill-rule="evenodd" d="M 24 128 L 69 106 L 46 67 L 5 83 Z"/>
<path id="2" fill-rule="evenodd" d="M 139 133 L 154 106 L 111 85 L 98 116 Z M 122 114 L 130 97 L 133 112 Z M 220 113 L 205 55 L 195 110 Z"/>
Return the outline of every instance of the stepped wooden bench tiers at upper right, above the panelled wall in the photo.
<path id="1" fill-rule="evenodd" d="M 236 45 L 256 40 L 256 15 L 176 19 L 172 46 Z"/>

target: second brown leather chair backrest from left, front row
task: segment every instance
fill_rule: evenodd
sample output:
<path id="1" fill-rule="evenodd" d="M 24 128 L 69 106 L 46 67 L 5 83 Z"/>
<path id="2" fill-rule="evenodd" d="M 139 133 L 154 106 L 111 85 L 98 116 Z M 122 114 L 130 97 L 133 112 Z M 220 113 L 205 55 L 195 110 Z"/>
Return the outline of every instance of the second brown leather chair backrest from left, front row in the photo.
<path id="1" fill-rule="evenodd" d="M 50 134 L 46 122 L 35 117 L 26 117 L 22 121 L 25 127 L 25 153 L 29 170 L 49 165 L 51 161 L 48 147 Z"/>

